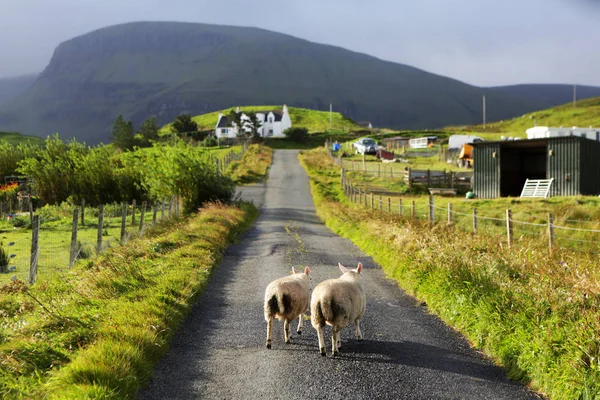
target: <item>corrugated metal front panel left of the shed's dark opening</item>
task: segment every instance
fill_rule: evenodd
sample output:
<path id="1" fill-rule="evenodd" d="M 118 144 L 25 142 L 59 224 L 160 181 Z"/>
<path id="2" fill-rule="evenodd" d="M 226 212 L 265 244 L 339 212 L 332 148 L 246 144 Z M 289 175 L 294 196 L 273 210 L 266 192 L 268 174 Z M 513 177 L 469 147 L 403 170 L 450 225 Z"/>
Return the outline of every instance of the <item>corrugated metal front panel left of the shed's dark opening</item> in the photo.
<path id="1" fill-rule="evenodd" d="M 496 158 L 493 153 L 496 153 Z M 473 153 L 473 192 L 479 198 L 500 197 L 500 143 L 477 146 Z"/>

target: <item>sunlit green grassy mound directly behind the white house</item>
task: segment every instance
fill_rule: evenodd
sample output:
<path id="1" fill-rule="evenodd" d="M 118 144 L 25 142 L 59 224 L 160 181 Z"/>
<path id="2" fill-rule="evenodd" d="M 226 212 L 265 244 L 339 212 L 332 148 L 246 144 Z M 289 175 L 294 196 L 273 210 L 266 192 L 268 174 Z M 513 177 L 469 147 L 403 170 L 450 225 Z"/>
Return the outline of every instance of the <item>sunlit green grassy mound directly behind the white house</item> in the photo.
<path id="1" fill-rule="evenodd" d="M 236 107 L 232 107 L 226 110 L 215 111 L 207 114 L 201 114 L 193 117 L 192 119 L 198 124 L 200 130 L 214 129 L 219 119 L 219 113 L 224 115 L 229 114 Z M 281 110 L 282 106 L 244 106 L 240 107 L 244 112 L 249 111 L 267 111 L 267 110 Z M 309 130 L 309 132 L 324 132 L 329 129 L 329 111 L 317 111 L 309 110 L 306 108 L 299 107 L 288 107 L 290 117 L 292 119 L 292 126 L 303 127 Z M 171 124 L 167 124 L 161 128 L 161 132 L 168 132 Z M 361 127 L 354 123 L 349 118 L 344 117 L 341 113 L 334 112 L 331 115 L 331 127 L 332 129 L 338 130 L 350 130 L 360 129 Z"/>

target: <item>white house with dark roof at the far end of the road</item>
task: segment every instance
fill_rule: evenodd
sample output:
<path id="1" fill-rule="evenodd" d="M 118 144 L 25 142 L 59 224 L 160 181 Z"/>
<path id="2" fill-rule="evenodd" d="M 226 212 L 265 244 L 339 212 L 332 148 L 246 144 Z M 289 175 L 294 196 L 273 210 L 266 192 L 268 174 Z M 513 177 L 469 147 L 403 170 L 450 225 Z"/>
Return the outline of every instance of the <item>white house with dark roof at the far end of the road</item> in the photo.
<path id="1" fill-rule="evenodd" d="M 238 107 L 236 112 L 241 112 Z M 258 134 L 262 137 L 284 137 L 283 131 L 292 127 L 292 119 L 287 106 L 283 105 L 283 110 L 257 111 L 256 117 L 261 123 Z M 242 121 L 248 121 L 250 118 L 242 113 Z M 250 132 L 250 128 L 243 126 L 246 132 Z M 219 113 L 217 126 L 215 127 L 215 135 L 218 138 L 235 138 L 239 132 L 239 127 L 230 121 L 226 115 Z"/>

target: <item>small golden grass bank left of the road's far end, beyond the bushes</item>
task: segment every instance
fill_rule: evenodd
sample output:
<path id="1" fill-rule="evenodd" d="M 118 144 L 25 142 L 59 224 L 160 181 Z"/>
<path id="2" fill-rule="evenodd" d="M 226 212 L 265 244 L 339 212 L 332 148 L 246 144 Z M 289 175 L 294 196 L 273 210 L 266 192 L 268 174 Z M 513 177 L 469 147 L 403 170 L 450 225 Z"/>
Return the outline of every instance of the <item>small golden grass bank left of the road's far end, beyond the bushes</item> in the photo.
<path id="1" fill-rule="evenodd" d="M 240 161 L 231 163 L 227 174 L 237 184 L 260 182 L 267 176 L 273 161 L 273 149 L 267 146 L 252 144 Z"/>

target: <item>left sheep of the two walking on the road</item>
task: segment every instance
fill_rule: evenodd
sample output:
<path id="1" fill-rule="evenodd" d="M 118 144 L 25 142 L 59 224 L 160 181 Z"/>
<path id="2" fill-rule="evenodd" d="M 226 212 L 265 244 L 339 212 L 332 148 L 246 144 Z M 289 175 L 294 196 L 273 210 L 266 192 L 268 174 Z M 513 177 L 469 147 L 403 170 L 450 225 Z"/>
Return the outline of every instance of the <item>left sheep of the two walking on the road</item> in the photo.
<path id="1" fill-rule="evenodd" d="M 271 348 L 271 330 L 275 318 L 283 320 L 285 342 L 290 341 L 290 323 L 298 319 L 298 335 L 302 334 L 302 320 L 308 311 L 310 301 L 310 282 L 308 267 L 304 272 L 296 272 L 292 267 L 292 275 L 271 282 L 265 291 L 265 320 L 267 321 L 267 349 Z"/>

